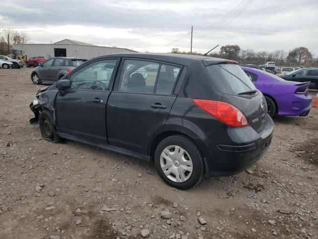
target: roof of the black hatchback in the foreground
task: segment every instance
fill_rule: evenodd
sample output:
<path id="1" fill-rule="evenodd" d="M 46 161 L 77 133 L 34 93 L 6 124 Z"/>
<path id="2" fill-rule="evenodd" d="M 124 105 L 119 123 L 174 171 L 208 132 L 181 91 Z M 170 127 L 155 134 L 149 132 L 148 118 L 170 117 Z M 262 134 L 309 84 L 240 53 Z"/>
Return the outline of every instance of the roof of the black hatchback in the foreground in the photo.
<path id="1" fill-rule="evenodd" d="M 175 54 L 175 53 L 116 53 L 109 54 L 97 58 L 104 57 L 130 57 L 130 58 L 146 58 L 150 60 L 166 61 L 176 64 L 187 65 L 191 62 L 204 61 L 205 65 L 218 64 L 220 62 L 226 62 L 226 59 L 210 57 L 210 56 L 200 56 L 200 55 L 190 55 L 190 54 Z"/>

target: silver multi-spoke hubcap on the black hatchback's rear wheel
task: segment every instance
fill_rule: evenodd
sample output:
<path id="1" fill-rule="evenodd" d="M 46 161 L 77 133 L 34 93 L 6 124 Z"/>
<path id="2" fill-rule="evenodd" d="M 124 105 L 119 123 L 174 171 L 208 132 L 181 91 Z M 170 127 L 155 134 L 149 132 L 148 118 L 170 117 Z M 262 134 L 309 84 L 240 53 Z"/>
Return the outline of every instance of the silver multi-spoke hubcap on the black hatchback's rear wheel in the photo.
<path id="1" fill-rule="evenodd" d="M 160 166 L 164 175 L 176 183 L 187 181 L 193 171 L 190 155 L 177 145 L 170 145 L 163 149 L 160 155 Z"/>

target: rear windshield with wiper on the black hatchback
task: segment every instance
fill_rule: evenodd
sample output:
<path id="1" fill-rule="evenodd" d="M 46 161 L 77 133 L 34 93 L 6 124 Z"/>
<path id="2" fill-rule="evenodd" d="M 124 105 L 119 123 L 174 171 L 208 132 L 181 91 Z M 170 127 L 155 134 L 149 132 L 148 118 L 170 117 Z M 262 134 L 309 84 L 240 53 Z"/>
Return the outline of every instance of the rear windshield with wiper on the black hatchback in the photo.
<path id="1" fill-rule="evenodd" d="M 218 91 L 238 95 L 246 91 L 256 90 L 245 72 L 236 64 L 218 64 L 207 66 L 209 75 Z"/>

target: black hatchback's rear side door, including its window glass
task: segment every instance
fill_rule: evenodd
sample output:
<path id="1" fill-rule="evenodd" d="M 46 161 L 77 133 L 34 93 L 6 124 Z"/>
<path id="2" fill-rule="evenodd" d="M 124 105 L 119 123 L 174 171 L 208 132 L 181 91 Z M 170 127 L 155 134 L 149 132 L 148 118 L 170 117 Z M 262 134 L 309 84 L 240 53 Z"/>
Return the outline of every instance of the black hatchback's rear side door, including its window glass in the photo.
<path id="1" fill-rule="evenodd" d="M 181 66 L 123 59 L 120 69 L 107 104 L 108 142 L 147 154 L 150 138 L 164 125 L 176 99 L 172 92 Z"/>

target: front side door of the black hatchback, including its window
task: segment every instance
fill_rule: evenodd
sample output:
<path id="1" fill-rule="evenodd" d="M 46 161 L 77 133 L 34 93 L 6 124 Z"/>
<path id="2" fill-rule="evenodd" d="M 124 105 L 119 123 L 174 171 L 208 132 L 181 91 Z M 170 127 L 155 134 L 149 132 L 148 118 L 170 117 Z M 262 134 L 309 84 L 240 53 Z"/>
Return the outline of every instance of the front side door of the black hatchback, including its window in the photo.
<path id="1" fill-rule="evenodd" d="M 71 89 L 56 98 L 57 129 L 77 138 L 107 143 L 106 105 L 118 59 L 98 60 L 69 76 Z"/>

